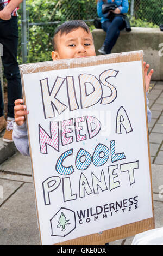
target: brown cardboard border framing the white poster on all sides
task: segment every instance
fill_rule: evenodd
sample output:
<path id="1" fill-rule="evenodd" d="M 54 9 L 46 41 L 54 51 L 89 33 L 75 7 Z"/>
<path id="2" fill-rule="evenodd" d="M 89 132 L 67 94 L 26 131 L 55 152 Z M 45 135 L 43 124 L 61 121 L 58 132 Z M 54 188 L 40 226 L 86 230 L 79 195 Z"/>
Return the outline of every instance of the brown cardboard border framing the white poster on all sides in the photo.
<path id="1" fill-rule="evenodd" d="M 143 51 L 134 51 L 134 52 L 124 52 L 124 53 L 115 53 L 111 55 L 99 55 L 92 57 L 85 57 L 81 59 L 64 59 L 59 61 L 50 61 L 50 62 L 40 62 L 32 64 L 23 64 L 20 65 L 20 73 L 22 79 L 22 88 L 23 88 L 23 97 L 24 104 L 26 104 L 26 96 L 24 92 L 24 81 L 23 74 L 37 73 L 37 72 L 46 72 L 55 69 L 67 69 L 67 68 L 76 68 L 76 67 L 86 67 L 86 66 L 96 66 L 99 64 L 108 64 L 108 63 L 119 63 L 119 62 L 130 62 L 130 61 L 142 61 L 143 65 Z M 41 71 L 40 71 L 41 69 Z M 145 88 L 145 79 L 143 74 L 143 84 Z M 145 103 L 146 103 L 146 93 L 145 93 Z M 146 125 L 147 123 L 147 110 L 146 110 Z M 40 221 L 39 221 L 39 212 L 37 207 L 37 198 L 36 198 L 36 189 L 35 189 L 35 178 L 33 171 L 33 160 L 30 146 L 30 135 L 28 129 L 28 117 L 27 117 L 27 132 L 29 139 L 29 151 L 32 163 L 32 172 L 34 180 L 34 190 L 35 190 L 35 201 L 36 201 L 36 211 L 37 211 L 37 221 L 39 224 L 39 233 L 41 241 L 41 231 L 40 231 Z M 147 133 L 148 138 L 148 133 Z M 148 139 L 148 154 L 149 154 L 149 139 Z M 149 154 L 149 169 L 151 177 L 151 190 L 152 190 L 152 174 L 151 174 L 151 161 Z M 152 194 L 152 193 L 151 193 Z M 152 194 L 152 205 L 153 205 L 153 194 Z M 142 220 L 140 222 L 134 222 L 131 224 L 123 225 L 114 229 L 103 231 L 102 234 L 92 234 L 83 237 L 78 237 L 77 239 L 67 240 L 65 242 L 56 243 L 55 245 L 104 245 L 107 242 L 115 241 L 122 239 L 124 237 L 132 236 L 143 231 L 153 229 L 154 224 L 154 210 L 153 217 L 149 219 Z M 129 231 L 130 229 L 130 231 Z M 42 241 L 41 241 L 42 244 Z"/>

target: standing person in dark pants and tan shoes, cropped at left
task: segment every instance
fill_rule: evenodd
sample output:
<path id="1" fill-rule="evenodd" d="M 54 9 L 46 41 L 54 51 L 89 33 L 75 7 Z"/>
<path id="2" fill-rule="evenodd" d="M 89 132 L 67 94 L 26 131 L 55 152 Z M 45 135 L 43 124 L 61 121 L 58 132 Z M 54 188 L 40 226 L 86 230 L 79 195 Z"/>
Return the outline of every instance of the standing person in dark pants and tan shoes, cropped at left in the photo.
<path id="1" fill-rule="evenodd" d="M 12 142 L 14 124 L 14 101 L 22 97 L 20 71 L 17 63 L 18 46 L 18 5 L 23 0 L 0 0 L 0 44 L 3 54 L 1 56 L 4 75 L 7 79 L 8 112 L 7 121 L 4 118 L 4 103 L 0 81 L 0 132 L 5 130 L 3 141 Z"/>

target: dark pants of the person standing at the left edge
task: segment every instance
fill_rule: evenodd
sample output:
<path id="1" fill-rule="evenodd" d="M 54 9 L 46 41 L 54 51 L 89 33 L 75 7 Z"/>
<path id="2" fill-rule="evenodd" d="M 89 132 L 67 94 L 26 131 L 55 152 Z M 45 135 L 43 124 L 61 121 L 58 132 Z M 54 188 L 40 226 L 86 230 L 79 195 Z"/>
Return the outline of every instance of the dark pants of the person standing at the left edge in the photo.
<path id="1" fill-rule="evenodd" d="M 0 43 L 3 45 L 2 63 L 8 82 L 8 117 L 14 118 L 14 101 L 22 97 L 20 71 L 17 63 L 18 26 L 17 17 L 0 19 Z M 0 82 L 1 83 L 1 82 Z M 0 117 L 4 115 L 2 89 L 0 86 Z"/>

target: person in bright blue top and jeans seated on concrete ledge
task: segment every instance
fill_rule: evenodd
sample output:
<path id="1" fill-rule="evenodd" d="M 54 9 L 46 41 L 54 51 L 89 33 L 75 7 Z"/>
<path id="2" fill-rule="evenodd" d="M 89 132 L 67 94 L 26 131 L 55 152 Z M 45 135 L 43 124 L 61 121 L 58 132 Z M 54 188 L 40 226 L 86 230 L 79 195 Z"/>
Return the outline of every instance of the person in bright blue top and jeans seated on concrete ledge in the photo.
<path id="1" fill-rule="evenodd" d="M 117 5 L 115 10 L 109 13 L 102 13 L 102 5 L 106 3 L 114 3 Z M 115 45 L 120 31 L 124 29 L 125 24 L 121 16 L 113 16 L 113 14 L 126 14 L 128 12 L 128 0 L 97 0 L 97 14 L 101 17 L 101 27 L 106 32 L 106 38 L 102 47 L 98 50 L 101 54 L 111 53 L 112 47 Z"/>

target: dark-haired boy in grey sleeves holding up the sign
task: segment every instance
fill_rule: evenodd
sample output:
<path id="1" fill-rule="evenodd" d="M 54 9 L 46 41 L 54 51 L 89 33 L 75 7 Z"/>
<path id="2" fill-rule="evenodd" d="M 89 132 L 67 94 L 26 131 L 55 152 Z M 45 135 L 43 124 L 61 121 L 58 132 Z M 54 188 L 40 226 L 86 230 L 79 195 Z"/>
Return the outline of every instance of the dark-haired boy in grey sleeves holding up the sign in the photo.
<path id="1" fill-rule="evenodd" d="M 67 21 L 57 28 L 53 37 L 53 47 L 53 61 L 57 59 L 82 58 L 96 55 L 93 38 L 89 27 L 84 21 L 79 20 Z M 146 91 L 148 91 L 153 69 L 147 75 L 149 64 L 146 65 L 146 63 L 144 63 L 144 67 Z M 22 104 L 22 99 L 17 99 L 15 101 L 15 124 L 13 139 L 17 149 L 25 156 L 28 156 L 29 146 L 25 116 L 29 114 L 29 111 L 27 111 L 26 106 Z M 149 109 L 148 118 L 151 118 L 151 112 Z"/>

